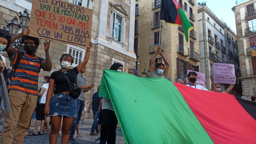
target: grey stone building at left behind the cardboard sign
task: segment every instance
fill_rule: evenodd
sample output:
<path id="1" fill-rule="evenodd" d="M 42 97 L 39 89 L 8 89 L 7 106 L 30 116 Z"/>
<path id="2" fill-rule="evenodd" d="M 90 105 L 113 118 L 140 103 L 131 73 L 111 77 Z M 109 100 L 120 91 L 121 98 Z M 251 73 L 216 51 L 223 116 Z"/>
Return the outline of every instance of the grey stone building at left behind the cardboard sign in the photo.
<path id="1" fill-rule="evenodd" d="M 134 46 L 134 20 L 135 1 L 133 0 L 64 0 L 69 3 L 85 6 L 93 10 L 92 40 L 90 60 L 87 63 L 87 70 L 84 74 L 87 84 L 94 83 L 94 87 L 85 93 L 85 99 L 90 103 L 92 94 L 97 91 L 97 86 L 101 82 L 104 69 L 119 62 L 124 65 L 123 71 L 135 68 L 136 55 Z M 18 12 L 27 9 L 31 11 L 31 0 L 0 0 L 0 28 L 6 26 Z M 43 40 L 44 41 L 44 40 Z M 42 41 L 42 42 L 43 42 Z M 75 58 L 73 67 L 84 59 L 86 48 L 51 42 L 50 57 L 52 70 L 50 72 L 41 71 L 39 74 L 38 86 L 42 86 L 42 76 L 51 75 L 55 70 L 59 70 L 60 57 L 63 53 L 70 53 Z M 39 46 L 37 56 L 45 58 L 43 45 Z M 10 67 L 10 65 L 8 66 Z M 87 105 L 89 106 L 89 105 Z M 87 115 L 90 117 L 90 115 Z"/>

